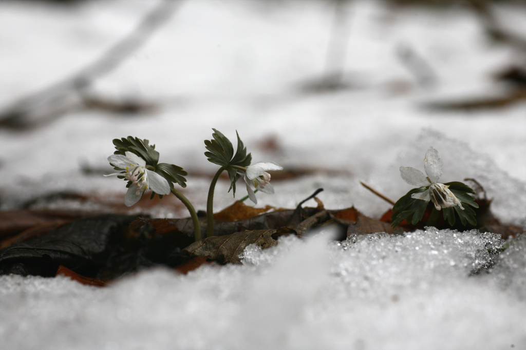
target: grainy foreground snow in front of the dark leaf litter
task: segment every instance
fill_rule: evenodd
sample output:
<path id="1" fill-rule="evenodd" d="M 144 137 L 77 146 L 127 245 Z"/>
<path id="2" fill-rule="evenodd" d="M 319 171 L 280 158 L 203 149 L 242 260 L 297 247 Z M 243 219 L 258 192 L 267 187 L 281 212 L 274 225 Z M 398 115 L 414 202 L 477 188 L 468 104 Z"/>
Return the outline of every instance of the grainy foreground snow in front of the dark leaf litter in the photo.
<path id="1" fill-rule="evenodd" d="M 526 346 L 524 239 L 501 255 L 492 273 L 472 274 L 491 260 L 488 250 L 502 247 L 497 234 L 430 228 L 341 244 L 328 243 L 328 236 L 282 239 L 265 251 L 252 246 L 240 266 L 206 266 L 186 276 L 149 270 L 104 289 L 66 277 L 2 276 L 0 303 L 9 315 L 1 328 L 3 344 L 25 349 Z"/>

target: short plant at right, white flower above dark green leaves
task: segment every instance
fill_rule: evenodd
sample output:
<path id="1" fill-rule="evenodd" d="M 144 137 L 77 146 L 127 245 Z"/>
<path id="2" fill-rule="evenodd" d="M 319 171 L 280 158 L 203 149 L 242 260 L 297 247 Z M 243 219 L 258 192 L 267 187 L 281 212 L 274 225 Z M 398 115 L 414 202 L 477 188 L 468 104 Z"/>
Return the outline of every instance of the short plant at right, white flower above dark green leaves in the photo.
<path id="1" fill-rule="evenodd" d="M 477 224 L 476 213 L 468 207 L 468 205 L 473 208 L 479 207 L 471 196 L 474 191 L 462 182 L 438 182 L 443 168 L 442 157 L 433 147 L 428 149 L 424 158 L 425 175 L 411 167 L 400 167 L 402 179 L 419 188 L 412 189 L 395 203 L 391 215 L 393 227 L 404 219 L 412 219 L 413 225 L 421 221 L 429 202 L 433 203 L 434 208 L 427 219 L 427 225 L 436 222 L 440 210 L 443 212 L 443 219 L 447 220 L 451 227 L 456 222 L 455 213 L 460 217 L 462 225 L 466 226 L 468 222 L 471 225 Z"/>

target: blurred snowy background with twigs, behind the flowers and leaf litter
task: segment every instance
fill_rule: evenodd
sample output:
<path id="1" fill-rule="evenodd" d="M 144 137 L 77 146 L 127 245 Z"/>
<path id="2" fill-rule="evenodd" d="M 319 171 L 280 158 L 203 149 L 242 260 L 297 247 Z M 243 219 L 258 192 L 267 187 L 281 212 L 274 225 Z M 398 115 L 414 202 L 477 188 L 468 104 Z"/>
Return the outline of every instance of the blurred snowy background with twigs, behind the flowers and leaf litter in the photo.
<path id="1" fill-rule="evenodd" d="M 524 1 L 2 1 L 0 50 L 2 210 L 186 215 L 173 198 L 124 207 L 102 174 L 128 135 L 185 168 L 205 209 L 211 128 L 285 167 L 258 205 L 323 187 L 328 208 L 381 214 L 359 181 L 396 200 L 398 167 L 437 145 L 444 182 L 494 166 L 525 188 Z"/>

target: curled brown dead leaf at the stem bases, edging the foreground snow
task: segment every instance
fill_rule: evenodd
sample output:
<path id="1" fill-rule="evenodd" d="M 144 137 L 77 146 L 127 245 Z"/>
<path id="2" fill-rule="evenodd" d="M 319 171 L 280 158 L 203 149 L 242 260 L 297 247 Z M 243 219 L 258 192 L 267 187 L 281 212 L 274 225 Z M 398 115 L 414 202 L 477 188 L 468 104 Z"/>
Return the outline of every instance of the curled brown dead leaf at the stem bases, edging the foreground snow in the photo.
<path id="1" fill-rule="evenodd" d="M 272 238 L 272 234 L 276 232 L 277 230 L 254 230 L 209 237 L 187 246 L 181 251 L 181 256 L 208 256 L 210 260 L 221 264 L 240 264 L 240 255 L 247 245 L 256 244 L 261 249 L 277 245 L 278 241 Z"/>

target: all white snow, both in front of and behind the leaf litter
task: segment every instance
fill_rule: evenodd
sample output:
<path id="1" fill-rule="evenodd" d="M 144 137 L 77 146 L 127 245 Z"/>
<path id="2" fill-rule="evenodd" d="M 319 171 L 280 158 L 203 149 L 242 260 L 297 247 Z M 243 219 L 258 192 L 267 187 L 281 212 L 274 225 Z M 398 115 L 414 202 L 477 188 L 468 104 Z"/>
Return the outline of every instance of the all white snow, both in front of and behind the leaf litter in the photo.
<path id="1" fill-rule="evenodd" d="M 0 3 L 0 107 L 84 67 L 156 4 Z M 258 205 L 293 208 L 323 187 L 319 198 L 326 208 L 355 205 L 378 216 L 389 204 L 359 181 L 396 200 L 410 189 L 398 168 L 423 170 L 433 146 L 444 160 L 441 180 L 476 178 L 494 198 L 500 220 L 526 225 L 526 106 L 470 112 L 422 107 L 503 93 L 491 75 L 522 54 L 490 45 L 464 7 L 430 12 L 356 1 L 347 12 L 345 81 L 352 88 L 306 94 L 302 84 L 325 69 L 332 2 L 183 3 L 94 89 L 116 100 L 152 101 L 156 111 L 117 117 L 77 108 L 35 130 L 0 130 L 2 210 L 58 190 L 124 201 L 122 180 L 86 176 L 80 165 L 111 172 L 111 140 L 128 135 L 155 143 L 163 162 L 213 174 L 203 140 L 216 128 L 231 139 L 237 129 L 254 161 L 323 170 L 275 182 L 276 194 L 259 193 Z M 500 6 L 498 14 L 524 33 L 522 8 Z M 437 86 L 417 84 L 396 56 L 400 45 L 428 62 Z M 269 137 L 277 150 L 258 146 Z M 208 181 L 188 177 L 184 193 L 198 209 L 206 207 Z M 218 183 L 216 209 L 232 202 L 227 189 Z M 148 210 L 157 217 L 187 215 L 162 202 Z M 240 266 L 204 266 L 188 275 L 145 271 L 104 289 L 65 277 L 1 276 L 2 348 L 526 348 L 524 236 L 496 261 L 488 249 L 505 242 L 492 233 L 429 228 L 340 244 L 327 242 L 328 236 L 284 239 L 266 251 L 249 248 Z M 481 270 L 491 262 L 490 273 Z"/>

